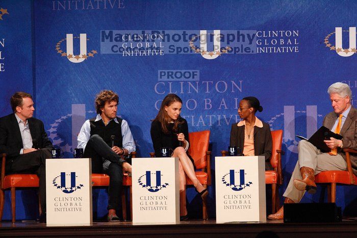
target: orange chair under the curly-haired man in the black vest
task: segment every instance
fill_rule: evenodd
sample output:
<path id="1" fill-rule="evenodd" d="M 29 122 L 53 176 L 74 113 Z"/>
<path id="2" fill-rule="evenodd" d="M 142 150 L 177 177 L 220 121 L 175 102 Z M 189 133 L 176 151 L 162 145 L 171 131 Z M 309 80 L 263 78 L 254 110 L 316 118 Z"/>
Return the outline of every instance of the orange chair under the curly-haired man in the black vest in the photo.
<path id="1" fill-rule="evenodd" d="M 132 155 L 132 158 L 135 158 L 136 152 L 132 152 L 131 155 Z M 96 186 L 96 187 L 109 186 L 109 178 L 110 177 L 106 174 L 92 174 L 93 186 Z M 123 173 L 123 186 L 130 187 L 130 215 L 131 215 L 131 219 L 133 219 L 132 177 L 129 177 L 129 174 L 127 174 L 127 173 Z M 122 207 L 122 212 L 123 212 L 123 219 L 126 220 L 126 196 L 125 196 L 124 189 L 123 189 L 122 195 L 121 195 L 121 207 Z"/>

